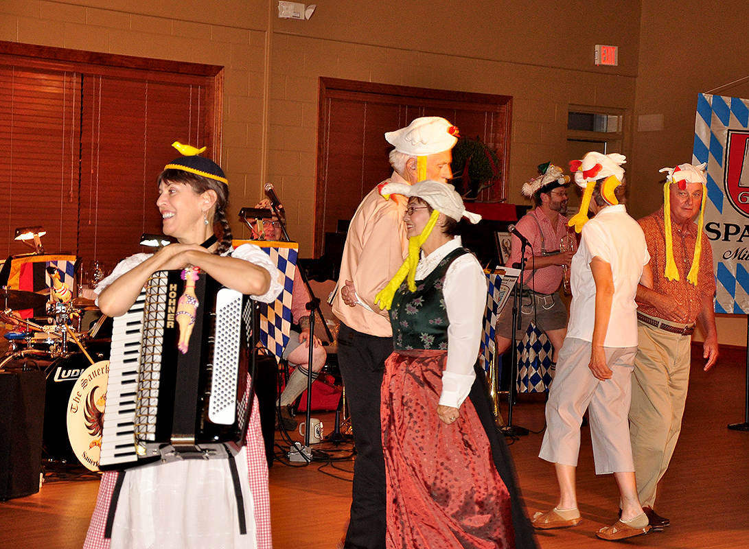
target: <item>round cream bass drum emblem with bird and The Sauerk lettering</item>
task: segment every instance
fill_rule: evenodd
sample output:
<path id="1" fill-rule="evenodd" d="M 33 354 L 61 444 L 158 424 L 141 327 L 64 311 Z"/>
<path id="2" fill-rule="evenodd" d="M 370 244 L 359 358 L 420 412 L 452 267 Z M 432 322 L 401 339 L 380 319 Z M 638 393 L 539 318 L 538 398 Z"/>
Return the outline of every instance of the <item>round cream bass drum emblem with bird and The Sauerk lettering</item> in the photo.
<path id="1" fill-rule="evenodd" d="M 94 363 L 76 381 L 67 404 L 67 435 L 76 458 L 99 470 L 109 360 Z"/>

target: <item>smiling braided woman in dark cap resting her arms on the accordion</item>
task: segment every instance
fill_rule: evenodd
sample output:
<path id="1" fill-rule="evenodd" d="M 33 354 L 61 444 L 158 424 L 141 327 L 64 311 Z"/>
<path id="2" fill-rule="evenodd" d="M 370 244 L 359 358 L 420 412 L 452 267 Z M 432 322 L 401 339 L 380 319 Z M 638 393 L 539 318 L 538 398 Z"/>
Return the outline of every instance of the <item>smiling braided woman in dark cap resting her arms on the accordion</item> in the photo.
<path id="1" fill-rule="evenodd" d="M 228 186 L 216 163 L 198 156 L 178 158 L 166 166 L 158 183 L 164 234 L 178 242 L 121 261 L 97 288 L 103 314 L 127 312 L 154 272 L 187 267 L 199 267 L 255 300 L 276 299 L 281 286 L 268 256 L 249 244 L 231 248 L 225 214 Z M 229 460 L 236 465 L 238 487 Z M 240 523 L 246 526 L 240 528 Z M 127 473 L 104 473 L 84 548 L 110 547 L 271 548 L 257 399 L 245 446 L 234 458 L 157 462 Z"/>

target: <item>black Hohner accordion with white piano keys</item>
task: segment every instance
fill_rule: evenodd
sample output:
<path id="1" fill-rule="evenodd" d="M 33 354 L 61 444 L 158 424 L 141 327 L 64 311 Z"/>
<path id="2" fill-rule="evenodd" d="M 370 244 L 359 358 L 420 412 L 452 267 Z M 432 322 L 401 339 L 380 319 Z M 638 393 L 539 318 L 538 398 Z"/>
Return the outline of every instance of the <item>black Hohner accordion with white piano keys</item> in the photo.
<path id="1" fill-rule="evenodd" d="M 246 381 L 257 333 L 255 302 L 199 273 L 183 353 L 183 273 L 154 273 L 130 310 L 113 319 L 101 469 L 225 458 L 243 444 L 252 406 Z"/>

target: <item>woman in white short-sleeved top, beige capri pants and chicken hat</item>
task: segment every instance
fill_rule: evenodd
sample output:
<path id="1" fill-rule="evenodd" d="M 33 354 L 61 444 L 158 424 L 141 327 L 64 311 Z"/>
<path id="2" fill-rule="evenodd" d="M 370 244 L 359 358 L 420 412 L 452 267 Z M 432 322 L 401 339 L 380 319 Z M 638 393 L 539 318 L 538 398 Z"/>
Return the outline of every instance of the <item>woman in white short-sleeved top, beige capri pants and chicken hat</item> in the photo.
<path id="1" fill-rule="evenodd" d="M 580 213 L 570 224 L 581 231 L 572 258 L 572 303 L 557 375 L 546 404 L 546 432 L 539 457 L 554 464 L 560 500 L 536 513 L 536 528 L 549 530 L 582 521 L 575 476 L 580 425 L 588 410 L 595 473 L 613 473 L 622 513 L 596 536 L 617 540 L 648 533 L 648 518 L 637 499 L 629 440 L 631 374 L 637 352 L 637 284 L 652 285 L 645 235 L 626 210 L 625 157 L 590 152 L 570 163 L 585 189 Z M 587 221 L 588 207 L 595 217 Z M 577 222 L 577 223 L 576 223 Z"/>

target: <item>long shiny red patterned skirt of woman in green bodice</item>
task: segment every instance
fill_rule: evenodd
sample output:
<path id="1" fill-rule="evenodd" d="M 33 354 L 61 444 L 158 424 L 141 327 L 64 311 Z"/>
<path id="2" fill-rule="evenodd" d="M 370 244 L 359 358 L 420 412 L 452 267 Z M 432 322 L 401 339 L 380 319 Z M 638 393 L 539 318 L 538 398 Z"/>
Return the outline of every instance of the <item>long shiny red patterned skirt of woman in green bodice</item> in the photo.
<path id="1" fill-rule="evenodd" d="M 514 548 L 509 492 L 470 399 L 451 425 L 437 416 L 446 351 L 396 351 L 380 413 L 387 547 Z"/>

